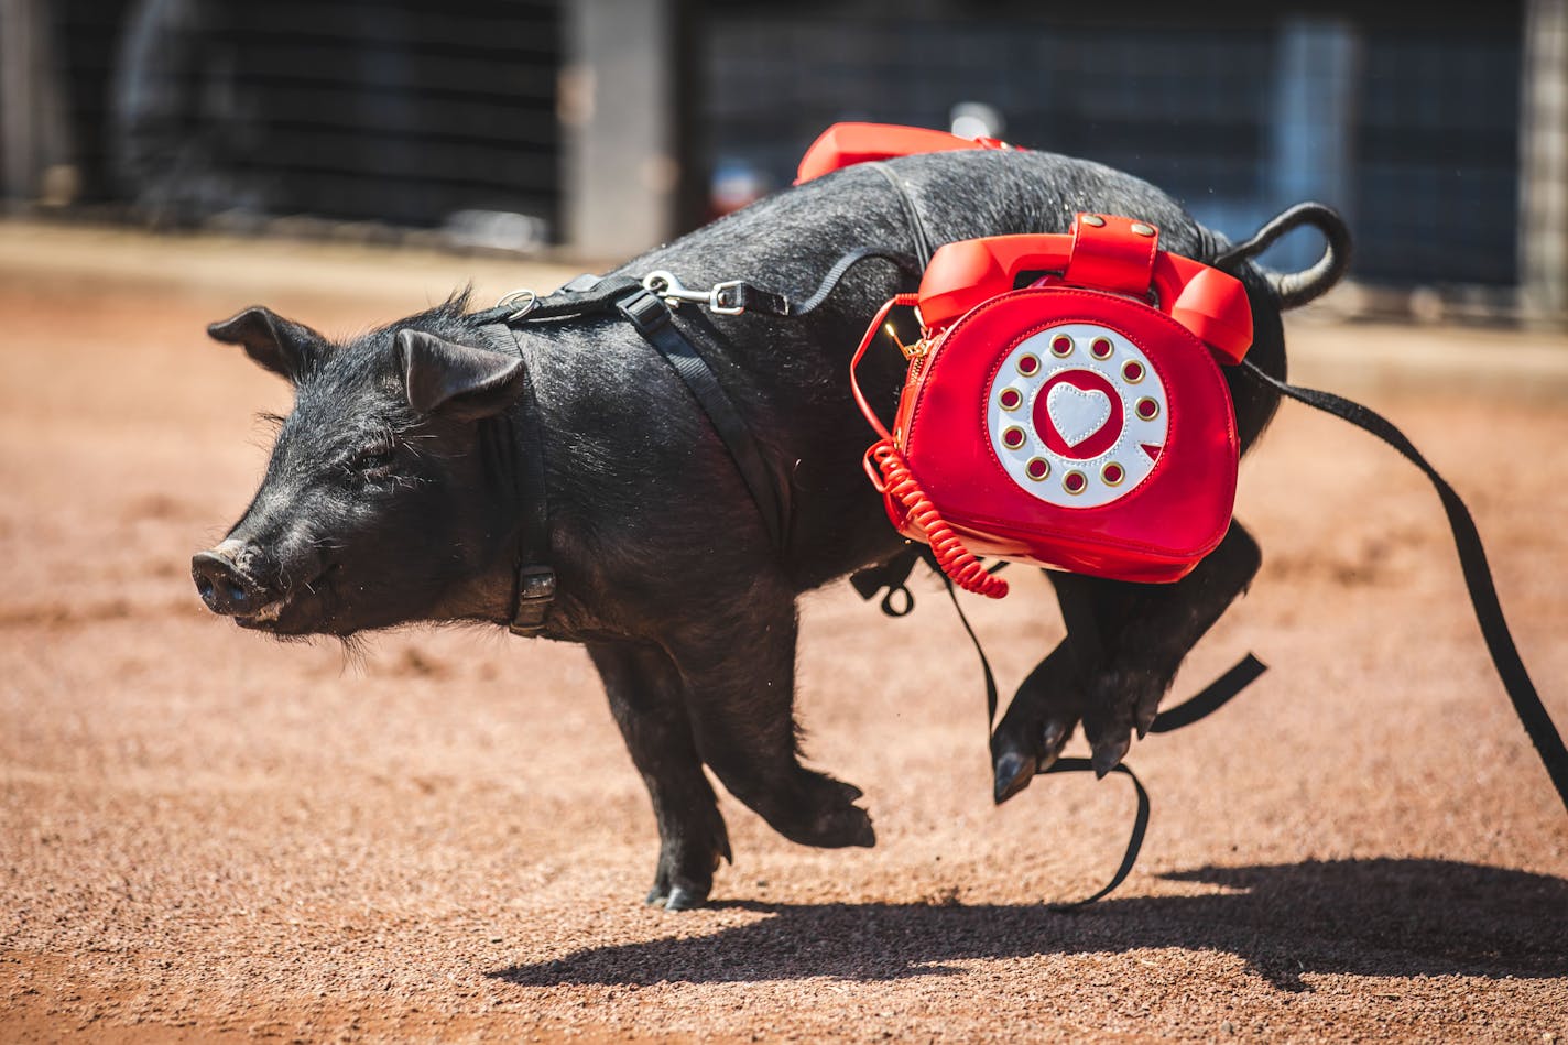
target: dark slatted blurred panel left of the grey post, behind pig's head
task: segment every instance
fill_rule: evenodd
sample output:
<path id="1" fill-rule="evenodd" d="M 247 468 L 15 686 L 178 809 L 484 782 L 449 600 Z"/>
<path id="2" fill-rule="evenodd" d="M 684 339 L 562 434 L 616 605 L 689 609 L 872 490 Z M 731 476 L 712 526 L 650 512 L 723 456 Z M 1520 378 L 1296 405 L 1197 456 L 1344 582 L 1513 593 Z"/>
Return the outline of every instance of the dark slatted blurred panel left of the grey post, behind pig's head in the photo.
<path id="1" fill-rule="evenodd" d="M 77 202 L 105 217 L 558 224 L 555 0 L 0 3 L 58 42 Z"/>

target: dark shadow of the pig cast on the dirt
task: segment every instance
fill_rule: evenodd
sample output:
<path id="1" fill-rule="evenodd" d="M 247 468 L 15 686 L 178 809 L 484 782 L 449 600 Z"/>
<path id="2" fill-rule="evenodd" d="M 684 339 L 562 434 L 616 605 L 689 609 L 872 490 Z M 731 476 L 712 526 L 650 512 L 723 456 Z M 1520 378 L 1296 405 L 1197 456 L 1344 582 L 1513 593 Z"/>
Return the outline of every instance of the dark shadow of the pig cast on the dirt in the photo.
<path id="1" fill-rule="evenodd" d="M 1225 951 L 1284 990 L 1303 973 L 1568 974 L 1568 880 L 1441 860 L 1338 860 L 1165 876 L 1221 894 L 1043 905 L 762 904 L 771 915 L 696 938 L 586 948 L 491 976 L 563 984 L 739 982 L 952 973 L 944 962 L 1135 948 Z"/>

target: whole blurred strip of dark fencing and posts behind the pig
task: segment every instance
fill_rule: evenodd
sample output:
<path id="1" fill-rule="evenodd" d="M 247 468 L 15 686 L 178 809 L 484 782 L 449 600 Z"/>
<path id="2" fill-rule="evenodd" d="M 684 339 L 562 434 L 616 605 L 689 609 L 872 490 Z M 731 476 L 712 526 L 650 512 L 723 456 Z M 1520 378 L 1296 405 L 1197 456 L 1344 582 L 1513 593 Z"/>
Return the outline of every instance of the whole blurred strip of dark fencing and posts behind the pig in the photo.
<path id="1" fill-rule="evenodd" d="M 1096 158 L 1231 235 L 1323 199 L 1341 308 L 1427 320 L 1563 323 L 1565 97 L 1568 0 L 0 0 L 9 215 L 615 260 L 869 119 Z"/>

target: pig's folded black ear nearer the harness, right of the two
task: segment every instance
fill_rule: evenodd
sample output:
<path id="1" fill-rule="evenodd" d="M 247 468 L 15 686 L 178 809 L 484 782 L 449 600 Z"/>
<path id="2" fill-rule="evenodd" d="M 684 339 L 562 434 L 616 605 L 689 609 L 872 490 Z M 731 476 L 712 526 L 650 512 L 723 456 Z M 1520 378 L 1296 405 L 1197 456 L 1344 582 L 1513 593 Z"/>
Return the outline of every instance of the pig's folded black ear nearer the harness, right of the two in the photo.
<path id="1" fill-rule="evenodd" d="M 478 421 L 511 406 L 522 394 L 527 372 L 516 356 L 469 348 L 417 330 L 398 331 L 395 344 L 408 403 L 422 414 L 439 410 L 461 421 Z"/>

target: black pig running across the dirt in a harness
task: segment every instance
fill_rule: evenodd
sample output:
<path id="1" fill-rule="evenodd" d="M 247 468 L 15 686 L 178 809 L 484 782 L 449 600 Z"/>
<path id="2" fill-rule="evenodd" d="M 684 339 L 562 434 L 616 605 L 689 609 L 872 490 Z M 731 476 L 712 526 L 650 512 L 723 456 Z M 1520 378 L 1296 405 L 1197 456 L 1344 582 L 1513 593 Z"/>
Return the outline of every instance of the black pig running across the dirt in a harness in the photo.
<path id="1" fill-rule="evenodd" d="M 1159 226 L 1162 248 L 1181 254 L 1212 259 L 1225 246 L 1154 187 L 1096 163 L 975 151 L 891 166 L 935 243 L 1062 232 L 1076 212 L 1102 210 Z M 619 271 L 663 268 L 701 287 L 743 278 L 798 300 L 867 245 L 914 254 L 914 232 L 889 180 L 851 166 Z M 1316 297 L 1338 271 L 1234 270 L 1253 306 L 1250 358 L 1283 377 L 1281 301 Z M 519 402 L 532 381 L 558 576 L 544 634 L 588 646 L 652 796 L 660 854 L 649 902 L 701 904 L 731 855 L 704 764 L 792 841 L 870 846 L 861 792 L 800 764 L 795 598 L 903 548 L 861 471 L 870 433 L 847 388 L 850 351 L 900 281 L 894 267 L 867 262 L 804 317 L 681 312 L 789 483 L 782 552 L 706 414 L 618 317 L 525 325 L 519 358 L 480 336 L 463 297 L 347 344 L 263 308 L 240 312 L 212 336 L 289 378 L 295 406 L 249 508 L 196 555 L 198 588 L 215 612 L 276 635 L 506 623 L 527 510 L 506 419 L 535 410 Z M 881 353 L 862 375 L 889 413 L 902 372 L 897 353 Z M 1247 447 L 1276 399 L 1229 378 Z M 1232 524 L 1178 584 L 1051 573 L 1073 628 L 993 737 L 997 800 L 1049 766 L 1079 722 L 1096 767 L 1113 767 L 1258 563 L 1258 546 Z"/>

